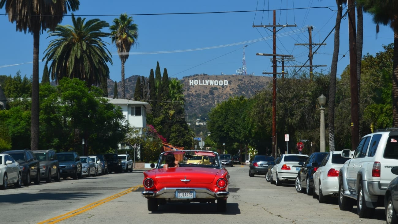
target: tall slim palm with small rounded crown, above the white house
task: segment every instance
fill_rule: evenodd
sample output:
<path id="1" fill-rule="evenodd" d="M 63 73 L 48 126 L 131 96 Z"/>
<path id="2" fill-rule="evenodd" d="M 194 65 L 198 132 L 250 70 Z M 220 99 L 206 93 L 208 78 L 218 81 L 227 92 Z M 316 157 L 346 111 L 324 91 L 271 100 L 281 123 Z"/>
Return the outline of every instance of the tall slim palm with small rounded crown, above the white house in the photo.
<path id="1" fill-rule="evenodd" d="M 122 63 L 122 98 L 125 98 L 125 62 L 129 58 L 129 52 L 133 45 L 137 44 L 138 25 L 133 24 L 133 17 L 121 14 L 119 18 L 113 20 L 111 30 L 112 43 L 116 43 L 117 53 Z"/>

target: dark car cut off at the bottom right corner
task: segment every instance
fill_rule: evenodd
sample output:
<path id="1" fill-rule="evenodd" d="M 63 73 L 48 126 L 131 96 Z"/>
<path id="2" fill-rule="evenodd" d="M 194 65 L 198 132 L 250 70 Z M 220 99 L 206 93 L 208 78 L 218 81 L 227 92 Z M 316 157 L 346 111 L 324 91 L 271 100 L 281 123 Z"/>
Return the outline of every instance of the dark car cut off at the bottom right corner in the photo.
<path id="1" fill-rule="evenodd" d="M 398 167 L 392 167 L 391 173 L 398 175 Z M 398 223 L 398 177 L 394 178 L 387 187 L 384 196 L 384 205 L 386 208 L 386 223 Z"/>

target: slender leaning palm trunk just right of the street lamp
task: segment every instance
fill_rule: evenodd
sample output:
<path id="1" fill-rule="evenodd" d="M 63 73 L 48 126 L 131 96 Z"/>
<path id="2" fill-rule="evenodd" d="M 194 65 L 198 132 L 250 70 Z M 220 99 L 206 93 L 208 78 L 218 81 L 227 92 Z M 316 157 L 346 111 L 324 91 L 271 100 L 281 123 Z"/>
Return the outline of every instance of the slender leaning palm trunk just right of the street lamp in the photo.
<path id="1" fill-rule="evenodd" d="M 328 103 L 328 126 L 329 126 L 329 150 L 334 151 L 334 107 L 336 103 L 336 75 L 337 75 L 337 62 L 340 49 L 340 24 L 343 7 L 338 3 L 338 11 L 336 16 L 336 27 L 334 29 L 334 49 L 332 56 L 332 65 L 330 67 L 330 80 L 329 80 L 329 103 Z"/>

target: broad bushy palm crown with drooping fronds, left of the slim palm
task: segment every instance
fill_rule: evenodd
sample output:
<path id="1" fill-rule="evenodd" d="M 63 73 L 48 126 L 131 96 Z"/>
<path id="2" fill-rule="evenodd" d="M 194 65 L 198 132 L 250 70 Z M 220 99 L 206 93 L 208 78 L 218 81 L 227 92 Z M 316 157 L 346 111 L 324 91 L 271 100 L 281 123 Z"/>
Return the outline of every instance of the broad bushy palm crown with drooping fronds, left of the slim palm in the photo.
<path id="1" fill-rule="evenodd" d="M 100 19 L 88 20 L 75 18 L 72 14 L 73 26 L 58 25 L 49 37 L 57 37 L 50 42 L 45 50 L 47 63 L 51 61 L 49 73 L 51 79 L 59 82 L 63 77 L 78 78 L 86 81 L 87 86 L 99 86 L 109 79 L 109 67 L 112 64 L 111 54 L 101 38 L 109 33 L 101 29 L 109 24 Z"/>

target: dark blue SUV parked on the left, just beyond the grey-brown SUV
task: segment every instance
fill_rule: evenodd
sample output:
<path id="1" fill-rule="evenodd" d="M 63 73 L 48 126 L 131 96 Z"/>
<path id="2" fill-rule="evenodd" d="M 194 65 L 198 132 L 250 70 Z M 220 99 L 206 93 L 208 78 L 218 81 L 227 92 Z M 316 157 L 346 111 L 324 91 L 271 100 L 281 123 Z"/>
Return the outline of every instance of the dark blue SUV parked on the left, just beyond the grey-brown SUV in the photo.
<path id="1" fill-rule="evenodd" d="M 82 161 L 78 153 L 74 151 L 57 153 L 59 161 L 59 172 L 61 177 L 72 177 L 73 179 L 82 178 Z"/>

